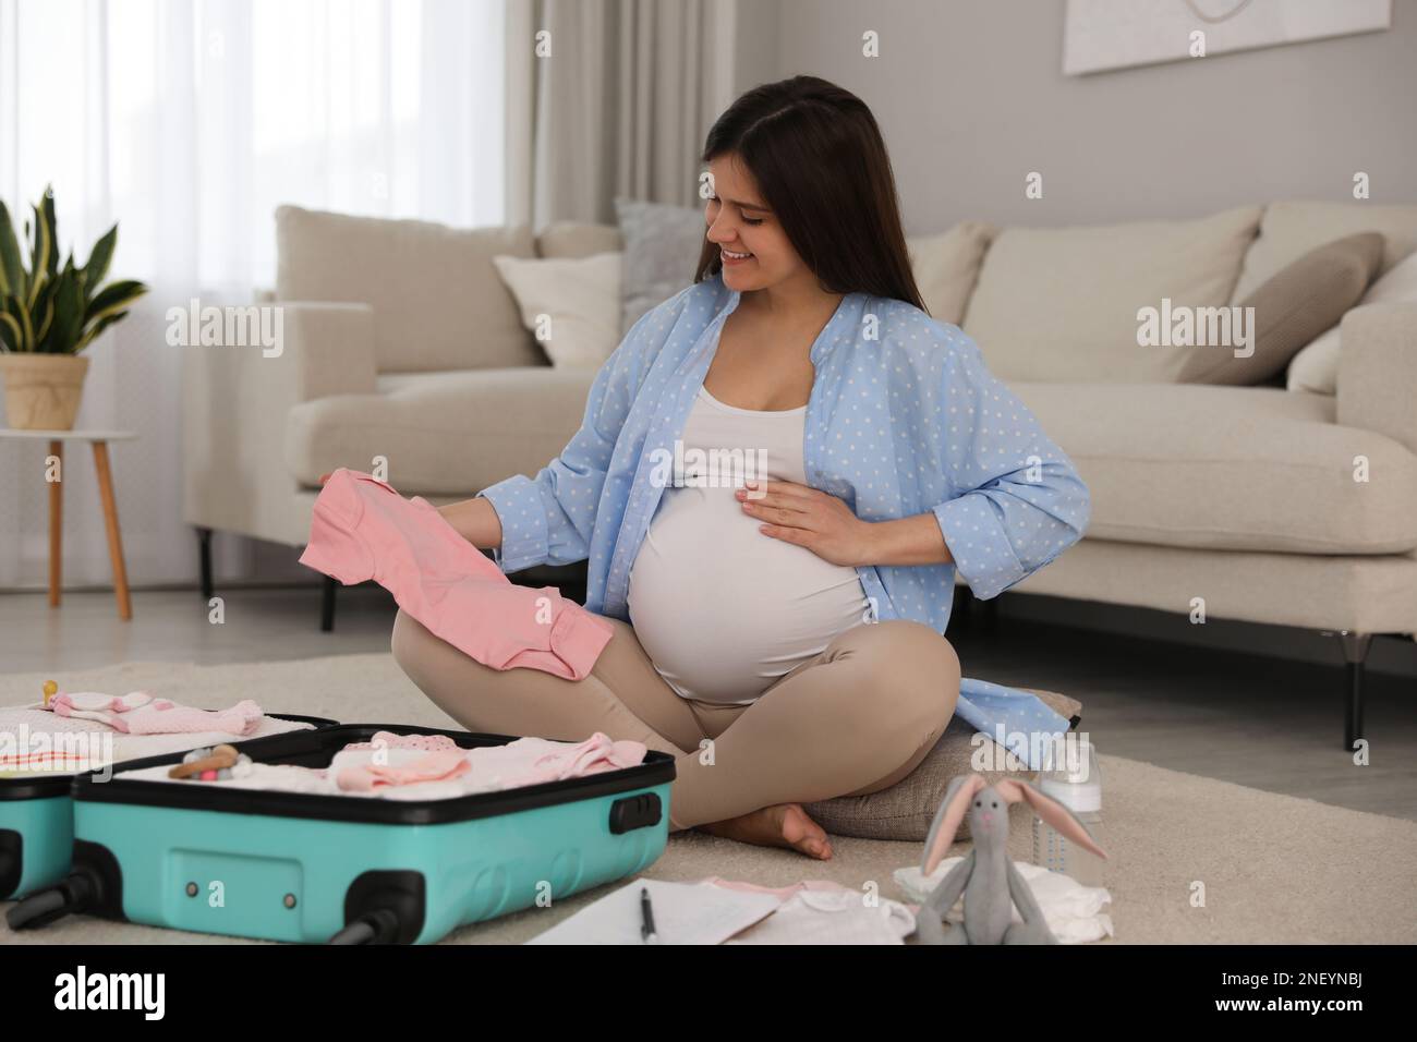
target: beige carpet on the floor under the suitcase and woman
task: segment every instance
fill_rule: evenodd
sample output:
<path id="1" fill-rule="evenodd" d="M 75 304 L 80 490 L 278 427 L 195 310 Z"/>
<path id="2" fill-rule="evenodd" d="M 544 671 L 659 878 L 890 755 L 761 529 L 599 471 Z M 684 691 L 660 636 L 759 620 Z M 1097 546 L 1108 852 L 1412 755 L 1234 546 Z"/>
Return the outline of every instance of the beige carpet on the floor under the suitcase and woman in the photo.
<path id="1" fill-rule="evenodd" d="M 38 673 L 0 678 L 0 705 L 38 698 L 44 679 Z M 222 666 L 137 662 L 54 679 L 69 690 L 146 689 L 207 707 L 254 698 L 268 712 L 346 723 L 456 726 L 387 654 Z M 1112 855 L 1105 885 L 1112 893 L 1117 943 L 1417 941 L 1417 822 L 1111 756 L 1102 757 L 1102 778 L 1107 811 L 1100 835 Z M 1027 856 L 1022 832 L 1012 844 L 1016 858 Z M 690 832 L 672 839 L 645 875 L 669 880 L 718 875 L 772 886 L 801 879 L 874 882 L 884 896 L 901 897 L 891 870 L 920 858 L 918 844 L 836 839 L 833 849 L 832 861 L 819 862 Z M 959 845 L 955 853 L 964 849 Z M 1197 883 L 1204 887 L 1203 907 L 1192 902 Z M 551 909 L 465 927 L 448 943 L 524 941 L 611 886 Z M 244 943 L 88 917 L 24 934 L 10 933 L 0 921 L 0 943 L 17 941 Z"/>

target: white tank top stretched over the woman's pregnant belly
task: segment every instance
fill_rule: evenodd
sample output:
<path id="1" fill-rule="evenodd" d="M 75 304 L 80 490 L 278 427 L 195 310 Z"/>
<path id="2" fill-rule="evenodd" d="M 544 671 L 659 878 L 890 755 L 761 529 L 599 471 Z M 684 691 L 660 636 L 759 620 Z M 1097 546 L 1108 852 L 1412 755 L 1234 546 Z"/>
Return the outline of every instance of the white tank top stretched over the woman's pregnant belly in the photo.
<path id="1" fill-rule="evenodd" d="M 758 532 L 734 498 L 745 478 L 806 483 L 805 425 L 806 405 L 737 408 L 707 388 L 694 400 L 626 594 L 639 642 L 683 698 L 750 703 L 866 621 L 856 568 Z"/>

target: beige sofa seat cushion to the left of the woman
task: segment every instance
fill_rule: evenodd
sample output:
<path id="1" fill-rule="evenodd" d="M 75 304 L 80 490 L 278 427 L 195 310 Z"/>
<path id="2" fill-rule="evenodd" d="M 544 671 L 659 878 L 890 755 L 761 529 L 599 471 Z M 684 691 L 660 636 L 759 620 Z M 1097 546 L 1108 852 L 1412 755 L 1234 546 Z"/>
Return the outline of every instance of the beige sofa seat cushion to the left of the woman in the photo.
<path id="1" fill-rule="evenodd" d="M 402 495 L 472 496 L 536 474 L 581 425 L 594 369 L 553 366 L 398 373 L 378 394 L 307 401 L 286 420 L 286 466 L 303 485 L 337 466 L 388 459 Z"/>

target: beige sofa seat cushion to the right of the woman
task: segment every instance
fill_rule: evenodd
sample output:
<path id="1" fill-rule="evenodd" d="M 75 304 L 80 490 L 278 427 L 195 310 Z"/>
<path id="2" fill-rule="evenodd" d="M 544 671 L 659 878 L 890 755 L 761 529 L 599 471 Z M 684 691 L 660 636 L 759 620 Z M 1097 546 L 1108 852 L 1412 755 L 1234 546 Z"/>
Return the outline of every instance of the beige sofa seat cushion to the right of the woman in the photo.
<path id="1" fill-rule="evenodd" d="M 1270 387 L 1013 383 L 1093 496 L 1087 539 L 1318 554 L 1417 547 L 1417 455 Z M 1355 481 L 1355 456 L 1370 481 Z"/>

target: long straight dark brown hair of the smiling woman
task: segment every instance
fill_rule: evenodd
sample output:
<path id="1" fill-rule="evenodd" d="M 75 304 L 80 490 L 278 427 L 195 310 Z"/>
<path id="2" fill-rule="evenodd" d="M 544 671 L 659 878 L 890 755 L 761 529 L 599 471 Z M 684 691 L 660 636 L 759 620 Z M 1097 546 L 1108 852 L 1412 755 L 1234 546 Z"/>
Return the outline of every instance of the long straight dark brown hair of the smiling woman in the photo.
<path id="1" fill-rule="evenodd" d="M 905 252 L 890 156 L 866 102 L 818 77 L 762 84 L 718 116 L 701 160 L 730 153 L 752 173 L 822 289 L 925 310 Z M 694 282 L 721 269 L 718 247 L 706 234 Z"/>

